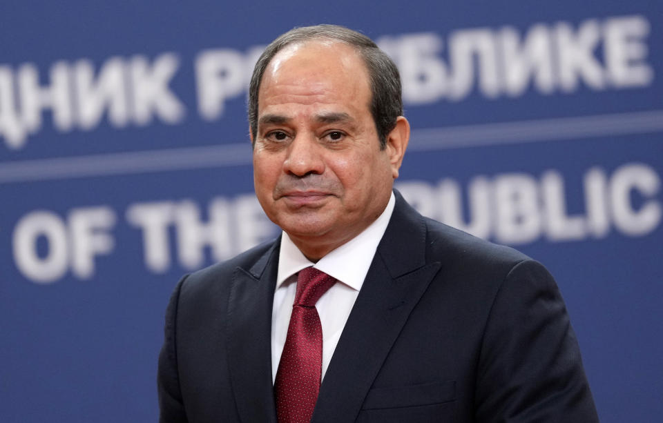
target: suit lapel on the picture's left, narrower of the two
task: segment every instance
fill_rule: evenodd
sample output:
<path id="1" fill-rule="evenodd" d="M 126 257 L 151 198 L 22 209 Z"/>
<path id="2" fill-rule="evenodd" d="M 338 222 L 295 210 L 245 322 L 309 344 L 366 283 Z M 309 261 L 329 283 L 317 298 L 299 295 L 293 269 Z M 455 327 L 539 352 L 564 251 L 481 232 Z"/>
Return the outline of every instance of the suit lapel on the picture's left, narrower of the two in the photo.
<path id="1" fill-rule="evenodd" d="M 271 381 L 271 309 L 278 245 L 250 269 L 236 268 L 228 306 L 228 364 L 242 422 L 276 422 Z"/>

